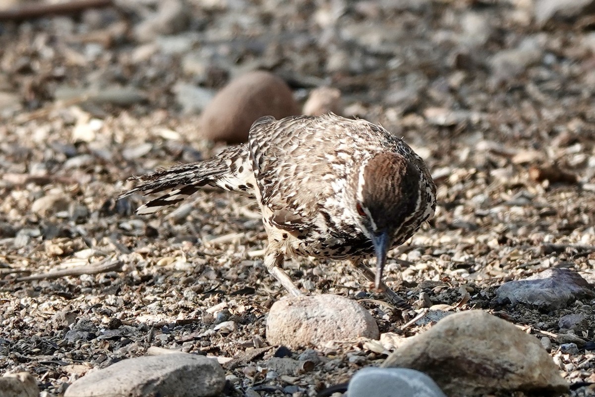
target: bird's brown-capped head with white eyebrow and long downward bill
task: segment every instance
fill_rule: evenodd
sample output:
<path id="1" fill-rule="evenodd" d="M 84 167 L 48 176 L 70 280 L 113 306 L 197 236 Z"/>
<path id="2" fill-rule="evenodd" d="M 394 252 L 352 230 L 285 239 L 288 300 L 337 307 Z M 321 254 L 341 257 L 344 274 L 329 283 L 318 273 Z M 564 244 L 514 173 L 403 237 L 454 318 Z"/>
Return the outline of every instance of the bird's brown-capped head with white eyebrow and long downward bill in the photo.
<path id="1" fill-rule="evenodd" d="M 356 186 L 352 212 L 372 241 L 377 258 L 375 286 L 380 286 L 387 251 L 419 205 L 419 171 L 393 152 L 380 152 L 362 161 L 353 176 Z"/>

